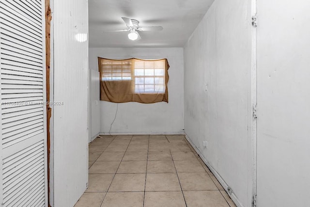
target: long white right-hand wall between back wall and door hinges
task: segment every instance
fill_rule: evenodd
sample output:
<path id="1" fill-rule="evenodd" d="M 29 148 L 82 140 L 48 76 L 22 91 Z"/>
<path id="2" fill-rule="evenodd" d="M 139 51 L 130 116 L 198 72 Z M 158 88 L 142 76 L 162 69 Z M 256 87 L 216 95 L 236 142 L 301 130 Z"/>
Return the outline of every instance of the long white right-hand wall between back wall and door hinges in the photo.
<path id="1" fill-rule="evenodd" d="M 215 0 L 186 43 L 184 63 L 186 135 L 235 203 L 250 207 L 250 0 Z"/>

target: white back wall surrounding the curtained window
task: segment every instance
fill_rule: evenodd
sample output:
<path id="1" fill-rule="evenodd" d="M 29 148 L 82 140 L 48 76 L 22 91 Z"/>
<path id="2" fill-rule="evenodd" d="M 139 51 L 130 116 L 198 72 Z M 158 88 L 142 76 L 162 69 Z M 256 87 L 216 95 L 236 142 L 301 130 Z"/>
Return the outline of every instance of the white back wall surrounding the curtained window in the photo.
<path id="1" fill-rule="evenodd" d="M 98 71 L 97 57 L 110 59 L 167 58 L 169 103 L 121 103 L 111 133 L 152 134 L 184 133 L 183 48 L 90 48 L 90 68 Z M 100 101 L 100 132 L 109 132 L 117 109 L 116 103 Z"/>

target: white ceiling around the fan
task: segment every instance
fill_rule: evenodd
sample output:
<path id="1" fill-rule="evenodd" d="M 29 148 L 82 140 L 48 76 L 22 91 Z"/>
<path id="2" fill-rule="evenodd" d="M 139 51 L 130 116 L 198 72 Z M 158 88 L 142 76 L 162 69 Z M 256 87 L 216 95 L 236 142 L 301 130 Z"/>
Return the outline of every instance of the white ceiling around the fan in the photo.
<path id="1" fill-rule="evenodd" d="M 89 0 L 90 48 L 183 47 L 214 0 Z M 163 31 L 139 32 L 131 41 L 122 16 L 140 27 L 162 26 Z"/>

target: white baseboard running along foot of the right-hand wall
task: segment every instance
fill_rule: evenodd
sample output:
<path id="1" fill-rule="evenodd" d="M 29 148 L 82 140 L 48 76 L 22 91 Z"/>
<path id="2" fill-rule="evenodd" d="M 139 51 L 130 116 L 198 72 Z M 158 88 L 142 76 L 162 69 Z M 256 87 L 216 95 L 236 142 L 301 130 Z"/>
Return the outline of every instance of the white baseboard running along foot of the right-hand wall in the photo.
<path id="1" fill-rule="evenodd" d="M 217 171 L 210 165 L 210 163 L 203 157 L 203 154 L 199 151 L 199 149 L 196 147 L 196 145 L 191 141 L 191 139 L 187 136 L 187 134 L 185 133 L 185 137 L 186 140 L 192 145 L 192 147 L 195 149 L 195 151 L 197 152 L 197 154 L 200 156 L 200 158 L 202 159 L 202 161 L 207 165 L 207 167 L 209 168 L 209 170 L 213 173 L 213 175 L 217 178 L 218 182 L 223 186 L 224 190 L 227 192 L 227 194 L 229 195 L 229 197 L 231 197 L 231 199 L 233 200 L 233 202 L 235 203 L 235 205 L 237 207 L 244 207 L 243 204 L 240 202 L 240 200 L 238 199 L 238 197 L 236 196 L 236 194 L 234 194 L 234 192 L 230 192 L 228 191 L 228 189 L 230 189 L 230 187 L 227 185 L 227 183 L 225 182 L 225 180 L 217 173 Z"/>

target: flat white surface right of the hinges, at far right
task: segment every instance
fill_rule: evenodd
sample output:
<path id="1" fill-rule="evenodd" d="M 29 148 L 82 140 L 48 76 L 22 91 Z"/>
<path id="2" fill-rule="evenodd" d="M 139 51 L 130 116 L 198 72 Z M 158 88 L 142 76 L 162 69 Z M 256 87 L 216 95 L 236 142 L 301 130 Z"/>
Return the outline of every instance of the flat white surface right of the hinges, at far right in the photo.
<path id="1" fill-rule="evenodd" d="M 309 207 L 309 8 L 258 3 L 258 207 Z"/>

